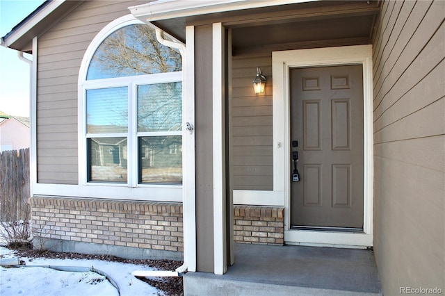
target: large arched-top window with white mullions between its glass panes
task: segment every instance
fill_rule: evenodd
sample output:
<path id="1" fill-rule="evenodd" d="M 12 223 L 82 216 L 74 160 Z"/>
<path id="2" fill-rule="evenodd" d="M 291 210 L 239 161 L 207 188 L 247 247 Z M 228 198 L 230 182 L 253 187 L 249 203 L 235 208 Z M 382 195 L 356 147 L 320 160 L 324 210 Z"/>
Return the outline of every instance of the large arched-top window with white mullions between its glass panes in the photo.
<path id="1" fill-rule="evenodd" d="M 181 184 L 181 54 L 147 24 L 99 44 L 82 84 L 88 183 Z"/>

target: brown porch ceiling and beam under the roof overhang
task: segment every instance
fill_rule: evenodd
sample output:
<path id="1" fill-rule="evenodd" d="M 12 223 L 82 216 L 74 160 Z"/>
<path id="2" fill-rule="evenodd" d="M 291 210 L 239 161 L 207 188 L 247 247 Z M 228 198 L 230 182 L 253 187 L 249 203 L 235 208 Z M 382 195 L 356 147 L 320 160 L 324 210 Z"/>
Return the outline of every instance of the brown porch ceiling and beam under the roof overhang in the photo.
<path id="1" fill-rule="evenodd" d="M 369 44 L 379 1 L 316 1 L 213 15 L 163 19 L 159 28 L 185 41 L 186 25 L 232 28 L 234 55 L 257 51 Z"/>

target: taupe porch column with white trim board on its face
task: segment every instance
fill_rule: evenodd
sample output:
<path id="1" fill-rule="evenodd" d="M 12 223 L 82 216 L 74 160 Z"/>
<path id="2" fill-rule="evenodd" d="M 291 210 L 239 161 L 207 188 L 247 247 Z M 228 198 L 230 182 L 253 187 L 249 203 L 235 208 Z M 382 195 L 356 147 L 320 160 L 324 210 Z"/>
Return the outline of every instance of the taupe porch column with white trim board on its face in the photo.
<path id="1" fill-rule="evenodd" d="M 195 26 L 197 271 L 227 271 L 225 31 Z"/>

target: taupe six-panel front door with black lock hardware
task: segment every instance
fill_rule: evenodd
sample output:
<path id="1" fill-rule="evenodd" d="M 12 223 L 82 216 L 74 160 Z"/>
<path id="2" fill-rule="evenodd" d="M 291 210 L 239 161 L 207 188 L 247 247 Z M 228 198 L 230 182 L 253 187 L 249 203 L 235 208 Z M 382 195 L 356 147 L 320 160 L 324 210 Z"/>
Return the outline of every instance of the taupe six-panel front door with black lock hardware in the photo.
<path id="1" fill-rule="evenodd" d="M 291 227 L 362 229 L 362 65 L 296 68 L 290 75 L 291 153 L 299 156 Z"/>

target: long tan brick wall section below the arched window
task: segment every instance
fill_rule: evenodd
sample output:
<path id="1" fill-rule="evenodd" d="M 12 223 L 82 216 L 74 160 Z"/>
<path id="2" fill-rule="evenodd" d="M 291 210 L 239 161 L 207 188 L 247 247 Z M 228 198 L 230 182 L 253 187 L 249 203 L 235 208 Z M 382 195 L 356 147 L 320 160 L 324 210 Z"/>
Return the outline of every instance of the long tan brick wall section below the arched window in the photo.
<path id="1" fill-rule="evenodd" d="M 33 235 L 183 252 L 182 205 L 67 197 L 32 197 Z"/>

